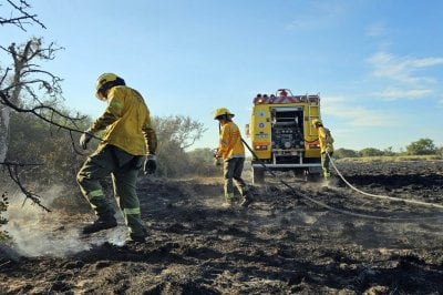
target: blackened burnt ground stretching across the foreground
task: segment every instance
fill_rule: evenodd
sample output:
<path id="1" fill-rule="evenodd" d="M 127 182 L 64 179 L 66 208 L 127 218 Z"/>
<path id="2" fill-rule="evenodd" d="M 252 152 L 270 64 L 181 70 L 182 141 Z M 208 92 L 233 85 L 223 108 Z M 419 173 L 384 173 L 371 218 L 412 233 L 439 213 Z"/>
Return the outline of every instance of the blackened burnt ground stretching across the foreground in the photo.
<path id="1" fill-rule="evenodd" d="M 364 192 L 443 205 L 441 161 L 338 166 Z M 143 179 L 145 244 L 79 240 L 91 214 L 51 213 L 62 238 L 44 254 L 3 248 L 0 293 L 443 294 L 442 208 L 282 176 L 293 190 L 268 177 L 248 210 L 222 206 L 222 179 Z M 76 248 L 62 244 L 72 236 Z"/>

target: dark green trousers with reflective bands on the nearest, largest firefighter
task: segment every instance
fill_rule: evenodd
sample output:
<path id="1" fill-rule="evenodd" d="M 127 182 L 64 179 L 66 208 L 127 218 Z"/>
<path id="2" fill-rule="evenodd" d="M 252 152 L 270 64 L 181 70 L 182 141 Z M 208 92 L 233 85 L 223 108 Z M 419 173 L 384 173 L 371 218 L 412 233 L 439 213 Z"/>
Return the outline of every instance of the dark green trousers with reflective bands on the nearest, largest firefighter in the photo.
<path id="1" fill-rule="evenodd" d="M 142 156 L 134 156 L 113 146 L 100 146 L 78 173 L 80 190 L 99 218 L 107 218 L 115 214 L 114 207 L 105 197 L 100 180 L 112 176 L 114 196 L 123 212 L 130 233 L 144 235 L 146 230 L 142 224 L 140 201 L 136 194 L 138 170 Z"/>

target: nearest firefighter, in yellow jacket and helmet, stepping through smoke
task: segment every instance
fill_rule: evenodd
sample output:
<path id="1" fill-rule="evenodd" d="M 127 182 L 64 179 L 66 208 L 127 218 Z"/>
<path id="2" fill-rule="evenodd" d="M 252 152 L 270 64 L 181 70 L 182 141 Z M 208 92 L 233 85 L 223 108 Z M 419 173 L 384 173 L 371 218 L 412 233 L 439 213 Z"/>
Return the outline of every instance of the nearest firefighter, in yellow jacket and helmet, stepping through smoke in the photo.
<path id="1" fill-rule="evenodd" d="M 99 77 L 95 95 L 107 101 L 107 108 L 80 138 L 80 144 L 86 149 L 93 134 L 104 131 L 99 148 L 76 176 L 82 194 L 97 215 L 94 223 L 83 227 L 83 234 L 117 226 L 114 207 L 99 182 L 111 174 L 114 196 L 130 230 L 130 241 L 144 242 L 147 231 L 141 220 L 136 181 L 144 156 L 145 174 L 154 173 L 156 169 L 157 139 L 150 110 L 142 95 L 113 73 Z"/>

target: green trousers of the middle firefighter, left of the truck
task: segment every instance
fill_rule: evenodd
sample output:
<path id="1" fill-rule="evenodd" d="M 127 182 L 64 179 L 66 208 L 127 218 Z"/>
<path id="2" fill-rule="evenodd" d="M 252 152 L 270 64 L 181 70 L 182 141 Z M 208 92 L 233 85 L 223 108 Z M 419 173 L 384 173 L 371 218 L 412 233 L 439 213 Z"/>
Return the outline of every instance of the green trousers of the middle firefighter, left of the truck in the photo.
<path id="1" fill-rule="evenodd" d="M 234 199 L 234 183 L 240 194 L 244 196 L 249 187 L 241 179 L 243 166 L 245 157 L 233 157 L 225 160 L 223 164 L 224 179 L 225 179 L 225 197 L 227 201 Z"/>

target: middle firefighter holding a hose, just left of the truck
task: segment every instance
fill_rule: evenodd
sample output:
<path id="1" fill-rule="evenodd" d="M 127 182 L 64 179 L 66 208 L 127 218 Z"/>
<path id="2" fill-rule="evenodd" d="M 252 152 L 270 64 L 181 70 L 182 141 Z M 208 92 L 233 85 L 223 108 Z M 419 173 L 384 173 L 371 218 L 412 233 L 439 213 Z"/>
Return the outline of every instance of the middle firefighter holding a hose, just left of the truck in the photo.
<path id="1" fill-rule="evenodd" d="M 223 159 L 225 179 L 225 204 L 230 206 L 234 201 L 234 183 L 241 194 L 243 207 L 251 202 L 249 187 L 241 179 L 245 163 L 245 146 L 241 142 L 241 134 L 238 126 L 233 122 L 234 114 L 226 108 L 215 110 L 214 119 L 219 122 L 220 134 L 216 157 Z"/>

